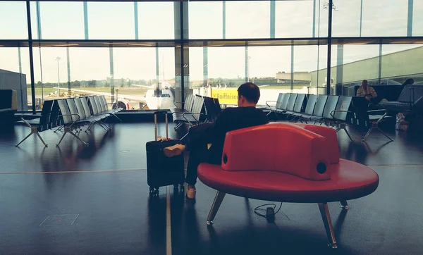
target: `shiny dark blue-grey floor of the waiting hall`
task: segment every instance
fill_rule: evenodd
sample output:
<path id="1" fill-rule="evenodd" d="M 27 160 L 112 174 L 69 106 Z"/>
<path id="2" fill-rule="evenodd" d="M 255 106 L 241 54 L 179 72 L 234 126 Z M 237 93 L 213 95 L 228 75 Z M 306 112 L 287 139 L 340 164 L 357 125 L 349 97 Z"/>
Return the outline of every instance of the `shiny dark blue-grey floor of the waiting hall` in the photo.
<path id="1" fill-rule="evenodd" d="M 14 147 L 29 130 L 0 134 L 0 254 L 422 254 L 423 137 L 405 132 L 341 131 L 341 156 L 370 166 L 379 188 L 329 204 L 338 249 L 326 247 L 317 204 L 283 204 L 274 223 L 255 215 L 266 201 L 226 196 L 207 228 L 215 191 L 197 185 L 197 199 L 161 187 L 149 197 L 145 143 L 152 123 L 99 126 L 84 147 L 62 132 L 42 132 Z M 164 126 L 159 133 L 164 133 Z M 171 137 L 179 138 L 171 128 Z M 277 207 L 279 204 L 277 204 Z M 166 213 L 170 213 L 166 217 Z M 166 224 L 166 223 L 170 223 Z M 166 235 L 166 230 L 168 235 Z"/>

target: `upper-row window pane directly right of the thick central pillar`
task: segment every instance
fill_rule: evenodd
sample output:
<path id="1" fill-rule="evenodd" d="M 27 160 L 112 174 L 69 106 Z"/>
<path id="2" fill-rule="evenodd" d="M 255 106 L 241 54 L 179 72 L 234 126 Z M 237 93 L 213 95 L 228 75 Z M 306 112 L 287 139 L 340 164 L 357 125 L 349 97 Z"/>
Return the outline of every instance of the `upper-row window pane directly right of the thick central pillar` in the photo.
<path id="1" fill-rule="evenodd" d="M 223 38 L 223 4 L 214 2 L 189 2 L 188 21 L 190 39 Z"/>

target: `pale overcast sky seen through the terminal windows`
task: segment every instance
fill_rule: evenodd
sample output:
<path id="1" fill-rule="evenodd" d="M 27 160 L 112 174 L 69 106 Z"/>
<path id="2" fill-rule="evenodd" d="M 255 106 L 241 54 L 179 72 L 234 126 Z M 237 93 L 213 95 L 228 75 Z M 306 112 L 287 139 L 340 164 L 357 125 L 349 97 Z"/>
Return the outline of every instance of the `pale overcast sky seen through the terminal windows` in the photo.
<path id="1" fill-rule="evenodd" d="M 315 36 L 327 35 L 326 1 L 317 0 Z M 408 0 L 363 0 L 361 35 L 406 36 Z M 361 0 L 334 0 L 333 37 L 360 36 Z M 84 39 L 82 2 L 40 2 L 42 39 Z M 37 39 L 35 2 L 31 3 L 32 36 Z M 25 2 L 0 2 L 0 39 L 26 39 Z M 222 2 L 189 3 L 190 39 L 223 37 Z M 174 39 L 173 3 L 138 3 L 139 39 Z M 90 39 L 135 39 L 133 3 L 88 3 Z M 412 35 L 423 35 L 423 0 L 414 0 Z M 312 37 L 313 1 L 276 1 L 276 38 Z M 226 38 L 269 38 L 269 1 L 226 2 Z M 385 45 L 388 54 L 420 45 Z M 332 64 L 336 64 L 336 46 Z M 245 77 L 245 48 L 209 48 L 209 77 Z M 104 80 L 110 77 L 108 48 L 70 48 L 71 80 Z M 290 72 L 290 46 L 260 46 L 248 49 L 251 77 L 275 77 L 278 71 Z M 294 70 L 326 68 L 327 46 L 295 46 Z M 344 63 L 378 56 L 379 45 L 345 45 Z M 21 49 L 22 70 L 29 82 L 29 52 Z M 57 61 L 61 82 L 67 81 L 66 48 L 34 49 L 35 82 L 57 82 Z M 159 72 L 174 77 L 173 48 L 159 49 Z M 42 65 L 40 66 L 40 60 Z M 18 49 L 0 47 L 0 68 L 19 70 Z M 42 68 L 42 72 L 41 72 Z M 114 77 L 154 79 L 154 48 L 115 48 Z M 190 80 L 203 79 L 203 49 L 190 48 Z"/>

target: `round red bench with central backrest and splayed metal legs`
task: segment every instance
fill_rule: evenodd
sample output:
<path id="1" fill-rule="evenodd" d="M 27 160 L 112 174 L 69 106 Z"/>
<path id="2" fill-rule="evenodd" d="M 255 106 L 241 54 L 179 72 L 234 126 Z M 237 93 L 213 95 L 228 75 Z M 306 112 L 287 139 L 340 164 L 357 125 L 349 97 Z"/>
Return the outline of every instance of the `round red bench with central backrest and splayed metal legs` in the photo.
<path id="1" fill-rule="evenodd" d="M 222 163 L 202 163 L 198 178 L 217 190 L 207 225 L 226 194 L 290 203 L 317 203 L 329 245 L 336 248 L 328 202 L 367 196 L 379 185 L 374 170 L 339 158 L 333 128 L 270 123 L 226 134 Z"/>

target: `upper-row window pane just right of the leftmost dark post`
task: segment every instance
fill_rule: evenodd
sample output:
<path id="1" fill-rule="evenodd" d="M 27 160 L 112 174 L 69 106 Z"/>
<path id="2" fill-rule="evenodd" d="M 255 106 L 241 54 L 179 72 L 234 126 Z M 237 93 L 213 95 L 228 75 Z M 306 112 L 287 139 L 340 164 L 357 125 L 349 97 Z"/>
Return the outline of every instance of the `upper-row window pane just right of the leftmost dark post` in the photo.
<path id="1" fill-rule="evenodd" d="M 37 8 L 32 4 L 32 37 L 38 39 Z M 39 2 L 40 39 L 84 39 L 82 2 Z M 35 18 L 35 19 L 34 19 Z M 26 17 L 25 17 L 26 20 Z"/>

